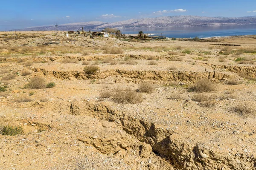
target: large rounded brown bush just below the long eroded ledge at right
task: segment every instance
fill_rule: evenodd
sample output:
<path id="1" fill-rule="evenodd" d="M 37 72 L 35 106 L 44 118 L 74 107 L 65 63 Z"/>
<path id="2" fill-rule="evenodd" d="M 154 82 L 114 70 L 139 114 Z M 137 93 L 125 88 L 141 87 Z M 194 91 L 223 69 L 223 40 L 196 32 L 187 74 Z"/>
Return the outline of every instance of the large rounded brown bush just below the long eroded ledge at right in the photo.
<path id="1" fill-rule="evenodd" d="M 217 87 L 215 83 L 212 83 L 209 79 L 196 80 L 194 85 L 189 88 L 191 91 L 197 91 L 199 93 L 216 91 Z"/>

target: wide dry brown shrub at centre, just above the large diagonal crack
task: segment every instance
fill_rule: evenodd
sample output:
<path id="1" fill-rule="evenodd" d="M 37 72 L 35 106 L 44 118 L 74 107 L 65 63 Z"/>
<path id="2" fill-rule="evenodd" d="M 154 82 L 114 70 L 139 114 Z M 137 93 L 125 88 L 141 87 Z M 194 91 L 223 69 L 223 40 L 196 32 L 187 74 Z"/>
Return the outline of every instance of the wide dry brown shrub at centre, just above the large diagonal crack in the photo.
<path id="1" fill-rule="evenodd" d="M 131 88 L 116 88 L 113 91 L 113 101 L 117 103 L 138 103 L 142 100 L 142 95 Z"/>

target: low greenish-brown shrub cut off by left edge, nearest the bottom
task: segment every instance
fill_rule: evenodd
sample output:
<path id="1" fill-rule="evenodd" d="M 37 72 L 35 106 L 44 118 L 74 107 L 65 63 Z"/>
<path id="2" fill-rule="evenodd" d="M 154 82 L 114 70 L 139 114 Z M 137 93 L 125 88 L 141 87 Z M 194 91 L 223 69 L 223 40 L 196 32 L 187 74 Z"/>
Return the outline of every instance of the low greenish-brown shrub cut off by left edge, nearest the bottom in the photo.
<path id="1" fill-rule="evenodd" d="M 23 133 L 24 130 L 22 126 L 0 125 L 1 135 L 15 136 Z"/>

